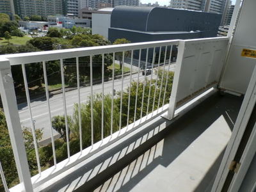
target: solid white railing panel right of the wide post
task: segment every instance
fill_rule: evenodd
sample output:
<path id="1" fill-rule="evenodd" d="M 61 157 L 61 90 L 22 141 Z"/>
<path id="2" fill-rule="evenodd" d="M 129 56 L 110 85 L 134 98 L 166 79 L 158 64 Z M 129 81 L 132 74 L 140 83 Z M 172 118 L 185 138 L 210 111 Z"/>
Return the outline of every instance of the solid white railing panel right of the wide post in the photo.
<path id="1" fill-rule="evenodd" d="M 185 40 L 183 58 L 177 63 L 179 77 L 174 78 L 178 82 L 173 83 L 177 84 L 176 103 L 219 82 L 227 45 L 228 38 L 200 42 Z"/>

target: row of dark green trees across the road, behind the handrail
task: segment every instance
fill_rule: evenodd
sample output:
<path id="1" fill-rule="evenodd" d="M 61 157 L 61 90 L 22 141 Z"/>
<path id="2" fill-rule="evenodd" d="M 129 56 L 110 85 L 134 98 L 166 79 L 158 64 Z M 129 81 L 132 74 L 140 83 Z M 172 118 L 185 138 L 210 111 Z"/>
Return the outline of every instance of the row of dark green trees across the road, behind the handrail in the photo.
<path id="1" fill-rule="evenodd" d="M 65 32 L 63 32 L 65 31 Z M 29 40 L 26 45 L 2 45 L 0 46 L 0 54 L 13 54 L 21 52 L 36 52 L 36 51 L 51 51 L 56 49 L 71 49 L 76 47 L 92 47 L 100 45 L 111 45 L 111 42 L 106 40 L 103 36 L 92 35 L 88 29 L 81 30 L 80 28 L 61 29 L 50 28 L 47 36 L 35 37 Z M 65 33 L 67 33 L 65 36 Z M 64 36 L 63 36 L 64 34 Z M 61 37 L 51 37 L 61 36 Z M 8 35 L 6 35 L 8 38 Z M 118 39 L 114 44 L 129 43 L 125 39 Z M 128 56 L 129 52 L 125 52 L 125 56 Z M 120 60 L 120 70 L 122 69 L 122 52 L 116 53 L 116 59 Z M 104 54 L 104 71 L 108 73 L 108 67 L 113 63 L 112 54 Z M 93 77 L 97 78 L 102 73 L 102 55 L 93 56 Z M 65 82 L 72 86 L 76 83 L 76 58 L 70 58 L 64 60 L 65 65 Z M 90 58 L 79 58 L 79 69 L 81 81 L 86 83 L 87 79 L 90 79 Z M 13 79 L 17 93 L 24 92 L 24 79 L 22 73 L 20 73 L 20 65 L 12 66 Z M 42 63 L 31 63 L 26 65 L 26 74 L 28 77 L 29 87 L 38 86 L 38 92 L 42 88 L 44 83 L 44 73 Z M 47 74 L 54 74 L 52 79 L 55 79 L 52 84 L 61 83 L 60 79 L 60 61 L 47 62 Z M 56 81 L 58 80 L 58 82 Z M 50 81 L 51 83 L 51 81 Z"/>

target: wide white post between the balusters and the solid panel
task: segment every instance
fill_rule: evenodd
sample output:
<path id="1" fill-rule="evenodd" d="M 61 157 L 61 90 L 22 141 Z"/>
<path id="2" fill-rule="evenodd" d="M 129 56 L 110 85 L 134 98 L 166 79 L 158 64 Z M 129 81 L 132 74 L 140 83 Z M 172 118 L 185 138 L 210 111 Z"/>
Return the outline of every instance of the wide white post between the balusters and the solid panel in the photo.
<path id="1" fill-rule="evenodd" d="M 174 117 L 175 109 L 176 109 L 177 90 L 179 88 L 180 70 L 182 67 L 184 51 L 185 51 L 185 41 L 180 40 L 178 45 L 176 67 L 175 67 L 175 72 L 173 77 L 172 93 L 170 95 L 170 101 L 169 101 L 169 107 L 168 107 L 168 114 L 167 114 L 168 120 L 172 120 L 172 118 Z"/>

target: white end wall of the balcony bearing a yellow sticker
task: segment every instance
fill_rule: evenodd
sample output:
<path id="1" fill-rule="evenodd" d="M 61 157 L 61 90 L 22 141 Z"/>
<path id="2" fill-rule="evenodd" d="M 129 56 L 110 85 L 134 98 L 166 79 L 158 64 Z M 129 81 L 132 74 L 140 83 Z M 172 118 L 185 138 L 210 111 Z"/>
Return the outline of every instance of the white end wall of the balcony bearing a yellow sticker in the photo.
<path id="1" fill-rule="evenodd" d="M 241 51 L 244 48 L 256 50 L 255 7 L 255 0 L 244 0 L 221 79 L 221 88 L 243 94 L 247 90 L 256 60 L 241 56 Z"/>

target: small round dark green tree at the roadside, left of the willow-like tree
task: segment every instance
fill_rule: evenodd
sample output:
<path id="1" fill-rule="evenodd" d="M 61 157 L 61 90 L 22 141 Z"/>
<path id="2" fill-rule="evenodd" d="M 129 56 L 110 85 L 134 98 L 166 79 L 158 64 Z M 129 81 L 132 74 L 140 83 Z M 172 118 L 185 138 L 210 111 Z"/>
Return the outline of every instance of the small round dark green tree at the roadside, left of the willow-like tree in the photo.
<path id="1" fill-rule="evenodd" d="M 72 124 L 72 119 L 70 116 L 67 116 L 68 120 L 68 138 L 70 138 L 70 126 Z M 54 116 L 52 117 L 52 128 L 55 129 L 57 132 L 60 133 L 61 138 L 65 142 L 67 142 L 67 131 L 66 131 L 66 124 L 65 124 L 65 116 Z"/>

